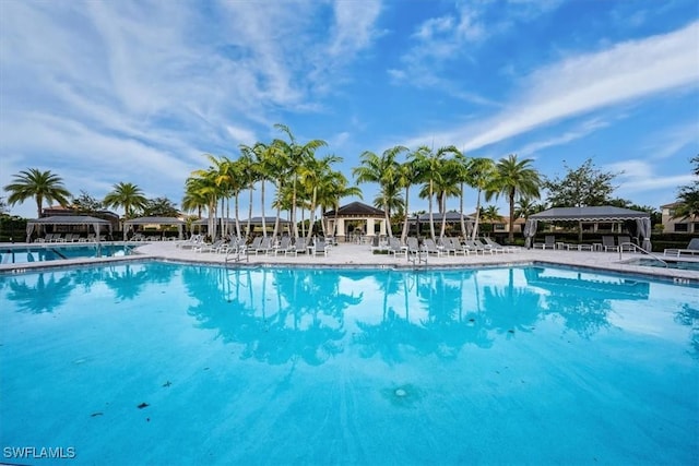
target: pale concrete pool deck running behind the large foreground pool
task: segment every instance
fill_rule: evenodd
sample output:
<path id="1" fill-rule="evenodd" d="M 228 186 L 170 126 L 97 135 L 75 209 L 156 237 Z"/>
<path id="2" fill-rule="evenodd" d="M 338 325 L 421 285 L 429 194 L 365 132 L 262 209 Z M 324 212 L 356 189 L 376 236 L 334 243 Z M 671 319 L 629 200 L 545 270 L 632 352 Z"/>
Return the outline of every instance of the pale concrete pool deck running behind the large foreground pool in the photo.
<path id="1" fill-rule="evenodd" d="M 119 242 L 121 244 L 121 242 Z M 82 246 L 95 243 L 81 243 Z M 155 242 L 127 242 L 134 248 L 134 254 L 116 258 L 79 258 L 61 261 L 29 262 L 16 264 L 0 264 L 0 273 L 22 273 L 36 268 L 62 267 L 68 265 L 84 265 L 97 263 L 111 263 L 125 261 L 139 261 L 143 259 L 167 260 L 187 263 L 203 264 L 225 264 L 226 254 L 214 252 L 196 252 L 191 249 L 177 247 L 177 241 L 155 241 Z M 0 248 L 7 247 L 21 249 L 35 247 L 38 244 L 22 243 L 0 243 Z M 46 244 L 42 244 L 45 247 Z M 63 244 L 54 244 L 61 247 Z M 672 261 L 677 258 L 654 254 L 655 258 Z M 458 266 L 479 266 L 479 265 L 519 265 L 531 263 L 555 264 L 564 266 L 576 266 L 585 268 L 597 268 L 601 271 L 631 273 L 650 277 L 664 277 L 678 283 L 699 285 L 699 272 L 679 268 L 642 266 L 626 263 L 632 259 L 650 259 L 648 254 L 624 252 L 619 259 L 618 252 L 601 251 L 568 251 L 568 250 L 541 250 L 541 249 L 519 249 L 517 252 L 471 255 L 449 255 L 437 258 L 429 255 L 427 263 L 417 265 L 418 267 L 458 267 Z M 229 266 L 254 266 L 254 265 L 298 265 L 298 266 L 342 266 L 342 267 L 379 267 L 379 268 L 414 268 L 415 264 L 408 262 L 405 255 L 394 256 L 392 254 L 375 254 L 369 244 L 340 243 L 328 251 L 328 255 L 298 254 L 274 255 L 274 254 L 250 254 L 244 256 L 240 262 L 233 261 L 234 254 L 228 256 Z M 687 262 L 696 262 L 699 259 L 685 259 Z"/>

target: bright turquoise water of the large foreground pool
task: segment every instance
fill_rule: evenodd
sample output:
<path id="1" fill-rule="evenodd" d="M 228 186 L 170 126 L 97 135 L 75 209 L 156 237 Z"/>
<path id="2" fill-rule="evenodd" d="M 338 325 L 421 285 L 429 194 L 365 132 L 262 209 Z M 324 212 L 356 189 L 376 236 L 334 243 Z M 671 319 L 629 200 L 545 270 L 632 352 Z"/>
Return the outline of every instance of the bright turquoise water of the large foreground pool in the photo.
<path id="1" fill-rule="evenodd" d="M 2 275 L 0 322 L 9 463 L 51 464 L 7 450 L 24 446 L 125 465 L 699 455 L 692 286 L 149 262 Z"/>

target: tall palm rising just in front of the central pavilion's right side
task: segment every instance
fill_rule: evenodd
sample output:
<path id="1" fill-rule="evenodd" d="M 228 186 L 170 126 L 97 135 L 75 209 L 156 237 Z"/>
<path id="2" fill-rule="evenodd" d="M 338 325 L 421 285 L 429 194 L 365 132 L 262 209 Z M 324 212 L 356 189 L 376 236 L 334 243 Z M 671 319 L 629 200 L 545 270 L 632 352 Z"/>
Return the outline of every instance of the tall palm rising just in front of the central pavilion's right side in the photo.
<path id="1" fill-rule="evenodd" d="M 383 208 L 388 235 L 391 238 L 393 237 L 391 231 L 391 204 L 395 204 L 395 198 L 400 190 L 396 157 L 405 151 L 407 151 L 407 147 L 402 145 L 387 148 L 381 156 L 370 151 L 365 151 L 359 156 L 362 166 L 352 170 L 357 183 L 374 182 L 379 184 L 377 201 L 380 201 Z"/>

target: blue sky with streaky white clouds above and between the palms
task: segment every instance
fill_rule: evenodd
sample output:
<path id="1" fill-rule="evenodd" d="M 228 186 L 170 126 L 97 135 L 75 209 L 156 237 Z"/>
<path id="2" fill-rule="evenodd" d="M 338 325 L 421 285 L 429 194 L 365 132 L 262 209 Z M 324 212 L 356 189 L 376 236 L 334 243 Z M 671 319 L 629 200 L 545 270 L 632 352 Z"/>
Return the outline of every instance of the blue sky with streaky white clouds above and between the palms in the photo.
<path id="1" fill-rule="evenodd" d="M 453 144 L 549 177 L 593 158 L 657 207 L 699 154 L 699 3 L 0 1 L 0 186 L 36 167 L 75 195 L 133 182 L 179 204 L 202 154 L 277 122 L 348 178 L 367 150 Z"/>

